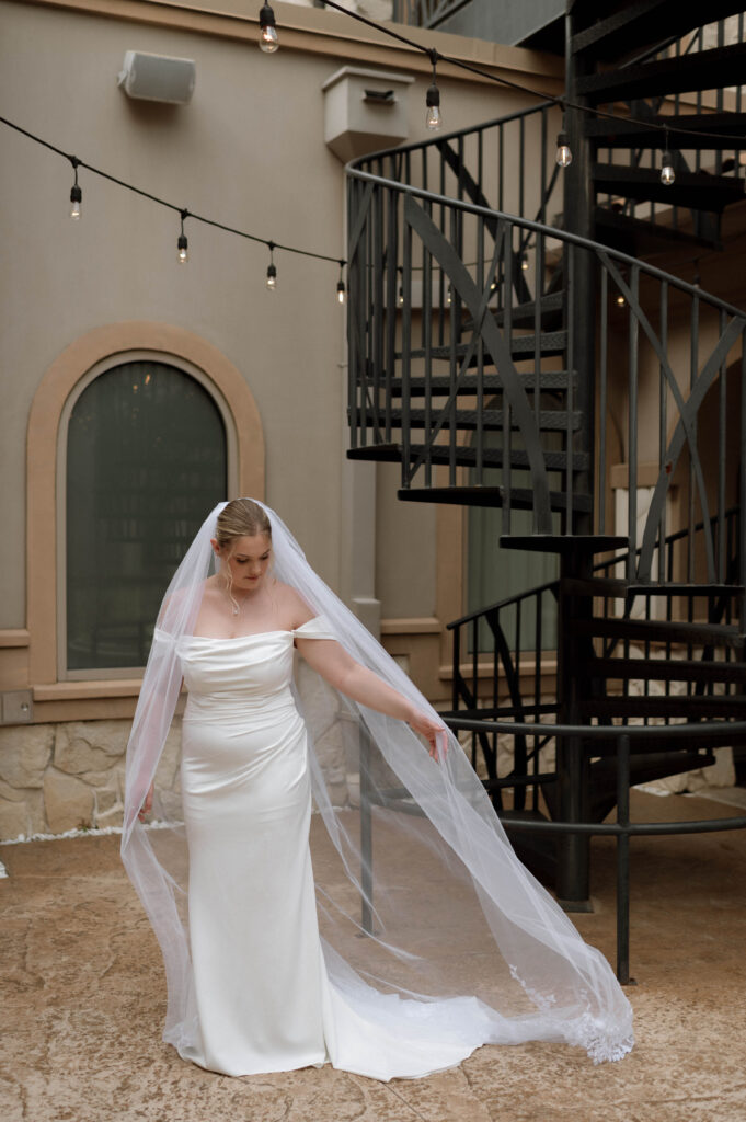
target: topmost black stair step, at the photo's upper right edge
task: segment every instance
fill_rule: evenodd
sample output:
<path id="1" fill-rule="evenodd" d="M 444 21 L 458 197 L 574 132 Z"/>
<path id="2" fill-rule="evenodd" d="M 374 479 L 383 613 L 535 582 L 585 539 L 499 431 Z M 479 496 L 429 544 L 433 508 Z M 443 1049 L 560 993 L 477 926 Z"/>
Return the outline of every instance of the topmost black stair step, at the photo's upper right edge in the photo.
<path id="1" fill-rule="evenodd" d="M 598 12 L 604 7 L 593 0 L 589 9 L 589 18 L 593 22 L 573 36 L 571 49 L 574 54 L 592 48 L 593 57 L 614 62 L 630 50 L 639 52 L 656 43 L 678 38 L 699 27 L 703 17 L 712 22 L 743 11 L 739 0 L 712 0 L 706 12 L 694 4 L 635 0 L 599 19 Z"/>

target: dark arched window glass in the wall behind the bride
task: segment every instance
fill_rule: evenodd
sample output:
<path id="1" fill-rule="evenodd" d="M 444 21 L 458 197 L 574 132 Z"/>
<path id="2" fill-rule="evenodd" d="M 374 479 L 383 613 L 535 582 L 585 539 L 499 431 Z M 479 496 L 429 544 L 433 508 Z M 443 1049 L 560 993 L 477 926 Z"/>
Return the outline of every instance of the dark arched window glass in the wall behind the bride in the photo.
<path id="1" fill-rule="evenodd" d="M 142 666 L 166 586 L 227 495 L 221 410 L 184 369 L 133 358 L 94 371 L 70 410 L 65 452 L 67 675 Z"/>

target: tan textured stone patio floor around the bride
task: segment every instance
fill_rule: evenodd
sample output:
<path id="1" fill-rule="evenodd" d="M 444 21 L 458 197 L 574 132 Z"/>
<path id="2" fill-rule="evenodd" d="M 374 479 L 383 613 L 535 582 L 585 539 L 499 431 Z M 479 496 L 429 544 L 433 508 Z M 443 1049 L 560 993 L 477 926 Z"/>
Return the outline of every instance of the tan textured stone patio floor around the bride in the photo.
<path id="1" fill-rule="evenodd" d="M 738 813 L 635 793 L 637 818 Z M 583 936 L 614 960 L 614 849 L 593 844 Z M 160 958 L 119 838 L 0 847 L 2 1122 L 744 1122 L 746 831 L 633 843 L 637 1046 L 481 1048 L 459 1068 L 379 1084 L 334 1072 L 231 1079 L 160 1042 Z"/>

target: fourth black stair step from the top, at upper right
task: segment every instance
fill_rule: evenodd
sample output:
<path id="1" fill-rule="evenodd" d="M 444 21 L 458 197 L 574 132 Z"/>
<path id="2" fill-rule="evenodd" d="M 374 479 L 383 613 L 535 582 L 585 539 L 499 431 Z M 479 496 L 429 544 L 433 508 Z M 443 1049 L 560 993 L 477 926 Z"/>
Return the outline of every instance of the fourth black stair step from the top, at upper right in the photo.
<path id="1" fill-rule="evenodd" d="M 719 212 L 729 203 L 744 199 L 743 180 L 707 175 L 704 172 L 680 172 L 675 182 L 667 187 L 661 183 L 661 173 L 655 167 L 593 164 L 591 175 L 596 190 L 604 194 L 687 206 L 691 210 Z"/>

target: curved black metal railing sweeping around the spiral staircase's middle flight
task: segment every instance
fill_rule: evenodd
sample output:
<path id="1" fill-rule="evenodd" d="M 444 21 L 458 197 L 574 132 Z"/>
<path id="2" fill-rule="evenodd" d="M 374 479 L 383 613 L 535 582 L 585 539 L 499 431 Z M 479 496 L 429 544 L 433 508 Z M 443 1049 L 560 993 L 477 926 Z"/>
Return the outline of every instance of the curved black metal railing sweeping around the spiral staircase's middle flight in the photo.
<path id="1" fill-rule="evenodd" d="M 393 158 L 380 156 L 381 169 Z M 503 506 L 504 533 L 510 532 L 512 504 L 529 507 L 534 532 L 546 534 L 553 533 L 552 511 L 560 509 L 563 532 L 572 533 L 574 516 L 592 508 L 592 424 L 578 401 L 583 387 L 590 399 L 595 389 L 596 486 L 606 494 L 610 454 L 627 462 L 633 553 L 642 427 L 647 431 L 644 458 L 656 463 L 637 578 L 651 579 L 675 481 L 679 507 L 687 512 L 681 521 L 691 524 L 700 514 L 706 525 L 696 568 L 702 580 L 721 582 L 722 525 L 734 484 L 728 442 L 742 448 L 746 435 L 743 404 L 739 412 L 731 407 L 734 392 L 729 406 L 728 387 L 735 383 L 746 402 L 746 314 L 589 239 L 358 166 L 350 166 L 348 175 L 353 454 L 390 448 L 392 458 L 402 462 L 405 495 L 435 486 L 439 468 L 440 486 L 457 488 L 463 486 L 464 465 L 477 487 L 486 469 L 497 467 L 501 487 L 495 505 Z M 523 269 L 521 247 L 528 243 L 528 268 Z M 598 355 L 593 368 L 575 369 L 573 275 L 581 255 L 590 256 L 597 278 L 598 307 L 588 314 L 598 311 Z M 550 309 L 560 321 L 547 330 L 541 297 L 549 286 L 541 278 L 560 261 L 564 295 L 559 309 Z M 534 292 L 540 298 L 522 309 L 515 303 L 517 270 L 538 278 Z M 554 362 L 547 360 L 552 355 Z M 542 407 L 546 387 L 559 387 L 555 411 Z M 487 407 L 495 395 L 501 407 Z M 712 403 L 715 420 L 703 458 L 698 422 L 706 402 Z M 561 451 L 547 433 L 561 434 Z M 501 447 L 495 448 L 495 434 Z M 529 493 L 515 486 L 517 467 L 531 469 Z M 746 457 L 738 490 L 746 494 Z M 719 532 L 710 528 L 711 514 Z M 601 533 L 604 519 L 601 505 Z M 743 525 L 739 537 L 743 569 Z"/>

